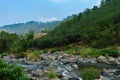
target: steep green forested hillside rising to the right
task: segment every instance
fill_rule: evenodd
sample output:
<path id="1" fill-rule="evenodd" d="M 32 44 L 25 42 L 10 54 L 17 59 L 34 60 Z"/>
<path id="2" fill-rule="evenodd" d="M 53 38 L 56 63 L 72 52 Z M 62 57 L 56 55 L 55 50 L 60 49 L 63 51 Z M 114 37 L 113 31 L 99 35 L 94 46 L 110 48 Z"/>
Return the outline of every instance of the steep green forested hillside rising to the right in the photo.
<path id="1" fill-rule="evenodd" d="M 102 0 L 101 5 L 86 9 L 65 20 L 48 35 L 36 39 L 40 48 L 64 46 L 73 42 L 91 47 L 119 45 L 120 1 Z"/>

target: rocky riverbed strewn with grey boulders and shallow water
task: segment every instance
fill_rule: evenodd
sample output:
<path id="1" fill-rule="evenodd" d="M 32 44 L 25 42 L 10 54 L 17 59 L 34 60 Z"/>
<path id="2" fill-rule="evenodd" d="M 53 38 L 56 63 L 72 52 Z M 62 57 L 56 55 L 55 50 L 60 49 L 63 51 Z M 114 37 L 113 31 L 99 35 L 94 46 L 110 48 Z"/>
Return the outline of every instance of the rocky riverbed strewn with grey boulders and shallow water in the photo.
<path id="1" fill-rule="evenodd" d="M 41 54 L 37 61 L 26 58 L 15 58 L 11 55 L 1 57 L 10 64 L 20 65 L 24 68 L 30 80 L 83 80 L 75 71 L 80 71 L 80 65 L 94 66 L 102 68 L 99 79 L 96 80 L 120 80 L 120 57 L 98 58 L 79 55 L 68 55 L 64 52 L 52 54 Z M 57 75 L 50 78 L 50 74 Z"/>

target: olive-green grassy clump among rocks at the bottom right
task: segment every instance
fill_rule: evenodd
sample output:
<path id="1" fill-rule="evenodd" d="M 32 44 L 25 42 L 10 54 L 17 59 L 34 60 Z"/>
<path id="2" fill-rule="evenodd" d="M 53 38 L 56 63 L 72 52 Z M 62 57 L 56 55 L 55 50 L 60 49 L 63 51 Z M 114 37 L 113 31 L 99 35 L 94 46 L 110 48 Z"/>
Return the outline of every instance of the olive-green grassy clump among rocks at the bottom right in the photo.
<path id="1" fill-rule="evenodd" d="M 99 78 L 101 71 L 100 69 L 90 67 L 82 69 L 80 74 L 83 80 L 94 80 Z"/>

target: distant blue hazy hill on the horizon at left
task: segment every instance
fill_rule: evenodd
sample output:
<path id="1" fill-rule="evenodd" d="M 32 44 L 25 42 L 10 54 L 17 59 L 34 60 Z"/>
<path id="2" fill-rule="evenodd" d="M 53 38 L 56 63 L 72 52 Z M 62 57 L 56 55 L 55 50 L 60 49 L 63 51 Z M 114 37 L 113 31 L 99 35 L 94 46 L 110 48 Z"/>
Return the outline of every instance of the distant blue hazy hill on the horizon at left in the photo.
<path id="1" fill-rule="evenodd" d="M 44 29 L 52 30 L 56 26 L 60 24 L 61 21 L 53 21 L 53 22 L 36 22 L 36 21 L 29 21 L 26 23 L 18 23 L 18 24 L 11 24 L 5 25 L 0 27 L 0 31 L 6 31 L 10 33 L 17 33 L 20 35 L 26 34 L 28 31 L 33 30 L 36 34 L 40 33 Z"/>

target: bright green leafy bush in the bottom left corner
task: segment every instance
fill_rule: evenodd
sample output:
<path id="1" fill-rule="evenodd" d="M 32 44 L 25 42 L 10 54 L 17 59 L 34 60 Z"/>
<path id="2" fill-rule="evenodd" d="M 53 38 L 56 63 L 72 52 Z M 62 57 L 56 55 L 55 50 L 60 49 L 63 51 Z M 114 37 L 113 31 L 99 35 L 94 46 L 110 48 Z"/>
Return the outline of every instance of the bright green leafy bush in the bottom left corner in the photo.
<path id="1" fill-rule="evenodd" d="M 29 80 L 22 68 L 0 60 L 0 80 Z"/>

